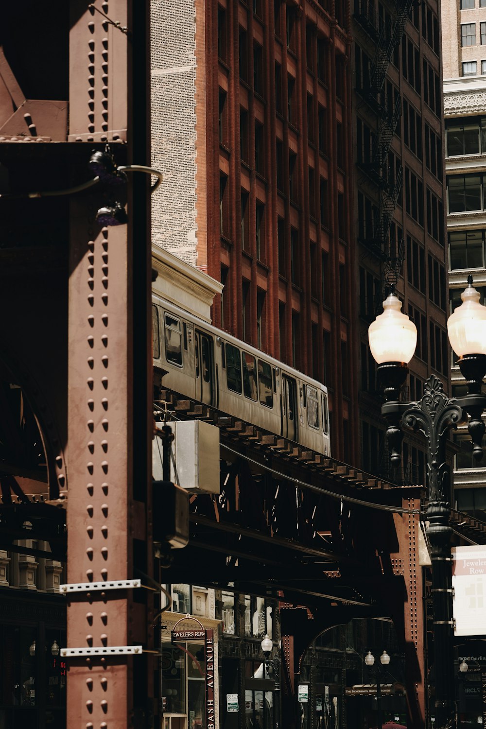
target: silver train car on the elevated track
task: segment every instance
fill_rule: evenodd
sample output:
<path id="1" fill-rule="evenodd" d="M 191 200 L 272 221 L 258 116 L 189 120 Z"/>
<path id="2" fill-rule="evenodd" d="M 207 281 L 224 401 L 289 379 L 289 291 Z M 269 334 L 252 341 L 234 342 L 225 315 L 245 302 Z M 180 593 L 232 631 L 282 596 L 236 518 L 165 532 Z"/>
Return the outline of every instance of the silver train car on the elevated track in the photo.
<path id="1" fill-rule="evenodd" d="M 162 385 L 330 455 L 327 389 L 283 362 L 152 295 Z"/>

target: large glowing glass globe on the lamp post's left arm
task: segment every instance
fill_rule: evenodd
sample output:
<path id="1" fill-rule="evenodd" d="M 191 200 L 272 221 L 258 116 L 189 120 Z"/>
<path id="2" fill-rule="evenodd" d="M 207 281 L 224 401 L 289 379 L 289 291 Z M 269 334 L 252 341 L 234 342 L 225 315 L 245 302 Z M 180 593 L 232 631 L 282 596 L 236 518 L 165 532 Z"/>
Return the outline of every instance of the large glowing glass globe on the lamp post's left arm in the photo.
<path id="1" fill-rule="evenodd" d="M 408 364 L 417 346 L 417 327 L 401 313 L 401 301 L 392 291 L 383 302 L 383 314 L 368 329 L 369 348 L 377 364 Z"/>

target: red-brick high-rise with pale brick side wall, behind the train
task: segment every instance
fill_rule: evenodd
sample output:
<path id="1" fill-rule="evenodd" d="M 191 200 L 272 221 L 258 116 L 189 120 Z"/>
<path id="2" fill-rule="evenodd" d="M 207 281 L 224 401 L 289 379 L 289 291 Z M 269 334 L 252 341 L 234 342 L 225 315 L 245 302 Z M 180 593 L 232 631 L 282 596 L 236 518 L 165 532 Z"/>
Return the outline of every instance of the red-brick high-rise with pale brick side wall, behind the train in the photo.
<path id="1" fill-rule="evenodd" d="M 222 281 L 216 326 L 326 383 L 356 461 L 348 4 L 152 7 L 153 241 Z"/>

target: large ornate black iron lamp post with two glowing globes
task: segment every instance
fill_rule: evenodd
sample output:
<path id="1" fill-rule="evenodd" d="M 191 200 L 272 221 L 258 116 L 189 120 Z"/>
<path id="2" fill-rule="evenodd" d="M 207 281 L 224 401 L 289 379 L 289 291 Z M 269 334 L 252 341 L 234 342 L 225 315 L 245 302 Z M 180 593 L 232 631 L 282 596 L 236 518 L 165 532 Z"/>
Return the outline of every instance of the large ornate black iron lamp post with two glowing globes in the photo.
<path id="1" fill-rule="evenodd" d="M 388 422 L 387 438 L 391 447 L 391 464 L 400 464 L 402 429 L 422 432 L 427 439 L 428 529 L 431 550 L 432 603 L 434 609 L 434 652 L 436 665 L 435 728 L 455 727 L 454 658 L 452 655 L 452 570 L 450 538 L 450 472 L 446 464 L 446 442 L 451 428 L 467 423 L 473 443 L 474 458 L 482 458 L 485 424 L 482 413 L 486 397 L 481 394 L 486 374 L 486 308 L 479 304 L 479 292 L 472 277 L 460 295 L 462 304 L 447 321 L 452 350 L 466 378 L 469 394 L 448 398 L 442 382 L 430 375 L 418 402 L 401 402 L 400 391 L 408 373 L 408 363 L 415 352 L 417 330 L 409 317 L 401 313 L 401 302 L 393 288 L 383 302 L 383 314 L 370 325 L 369 348 L 377 362 L 377 373 L 385 386 L 385 403 L 381 408 Z"/>

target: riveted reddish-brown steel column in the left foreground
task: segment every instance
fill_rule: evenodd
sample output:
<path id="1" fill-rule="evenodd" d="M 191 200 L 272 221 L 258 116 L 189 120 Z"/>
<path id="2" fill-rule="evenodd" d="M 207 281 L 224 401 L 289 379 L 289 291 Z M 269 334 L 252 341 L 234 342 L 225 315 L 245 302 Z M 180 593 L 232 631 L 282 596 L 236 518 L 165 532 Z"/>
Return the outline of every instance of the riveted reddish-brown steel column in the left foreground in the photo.
<path id="1" fill-rule="evenodd" d="M 146 64 L 149 3 L 95 2 L 128 34 L 71 3 L 70 140 L 114 142 L 149 163 Z M 138 55 L 137 55 L 138 54 Z M 145 106 L 144 106 L 145 99 Z M 137 105 L 138 121 L 130 117 Z M 134 128 L 135 123 L 139 128 Z M 136 138 L 136 141 L 135 141 Z M 122 147 L 121 140 L 128 139 Z M 118 144 L 117 144 L 118 143 Z M 87 161 L 90 145 L 86 145 Z M 152 575 L 149 483 L 149 178 L 128 180 L 130 224 L 101 228 L 103 186 L 71 203 L 68 311 L 68 582 Z M 117 195 L 127 195 L 122 191 Z M 115 195 L 115 196 L 117 196 Z M 123 201 L 123 200 L 122 200 Z M 143 581 L 143 580 L 141 580 Z M 153 647 L 152 593 L 68 596 L 68 648 Z M 152 659 L 66 658 L 68 727 L 150 726 Z M 157 713 L 155 711 L 155 713 Z"/>

